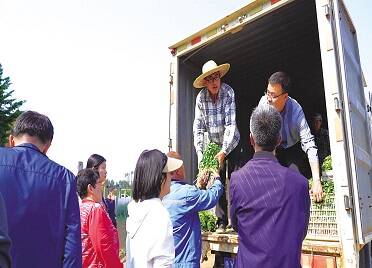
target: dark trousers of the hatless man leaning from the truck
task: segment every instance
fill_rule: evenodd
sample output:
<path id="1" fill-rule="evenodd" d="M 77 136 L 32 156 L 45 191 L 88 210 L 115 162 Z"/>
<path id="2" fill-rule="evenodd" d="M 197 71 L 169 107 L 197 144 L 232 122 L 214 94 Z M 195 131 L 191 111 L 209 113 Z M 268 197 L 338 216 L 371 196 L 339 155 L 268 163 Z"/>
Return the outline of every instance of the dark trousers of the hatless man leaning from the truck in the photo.
<path id="1" fill-rule="evenodd" d="M 276 149 L 276 158 L 282 166 L 297 168 L 308 179 L 312 176 L 309 160 L 305 152 L 302 151 L 300 142 L 289 148 L 278 147 Z"/>

